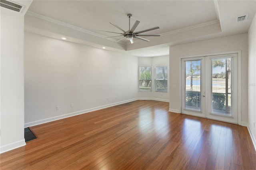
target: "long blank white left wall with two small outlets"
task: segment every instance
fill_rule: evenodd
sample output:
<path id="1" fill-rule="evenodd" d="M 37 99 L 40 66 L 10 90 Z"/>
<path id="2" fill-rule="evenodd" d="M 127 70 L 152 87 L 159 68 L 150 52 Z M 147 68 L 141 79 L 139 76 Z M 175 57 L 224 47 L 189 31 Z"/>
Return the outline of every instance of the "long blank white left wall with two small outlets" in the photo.
<path id="1" fill-rule="evenodd" d="M 28 32 L 24 44 L 25 127 L 137 98 L 137 57 Z"/>

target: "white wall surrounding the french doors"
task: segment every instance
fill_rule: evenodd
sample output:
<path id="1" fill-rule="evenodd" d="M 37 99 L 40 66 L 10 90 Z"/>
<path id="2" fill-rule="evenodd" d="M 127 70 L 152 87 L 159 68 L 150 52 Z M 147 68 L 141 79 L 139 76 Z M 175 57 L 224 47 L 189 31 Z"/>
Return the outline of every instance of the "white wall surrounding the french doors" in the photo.
<path id="1" fill-rule="evenodd" d="M 181 99 L 180 99 L 180 57 L 192 55 L 205 55 L 211 53 L 220 53 L 228 51 L 241 50 L 242 61 L 242 84 L 247 84 L 247 66 L 248 66 L 248 35 L 239 34 L 234 36 L 227 36 L 222 38 L 215 38 L 200 42 L 186 43 L 181 45 L 174 45 L 170 47 L 170 111 L 180 113 Z M 246 86 L 241 89 L 242 93 L 242 122 L 248 121 L 248 94 Z"/>

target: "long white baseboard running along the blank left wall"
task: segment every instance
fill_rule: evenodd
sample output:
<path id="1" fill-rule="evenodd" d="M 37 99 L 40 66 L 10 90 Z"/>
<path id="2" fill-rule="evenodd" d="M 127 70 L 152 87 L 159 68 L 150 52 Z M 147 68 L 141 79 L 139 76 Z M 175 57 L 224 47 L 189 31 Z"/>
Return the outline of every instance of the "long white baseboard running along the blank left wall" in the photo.
<path id="1" fill-rule="evenodd" d="M 24 124 L 24 128 L 32 127 L 32 126 L 35 126 L 35 125 L 40 125 L 42 123 L 57 121 L 59 119 L 64 119 L 64 118 L 67 118 L 67 117 L 81 115 L 81 114 L 92 112 L 92 111 L 97 111 L 97 110 L 100 110 L 100 109 L 105 109 L 105 108 L 116 106 L 116 105 L 121 105 L 121 104 L 128 103 L 128 102 L 131 102 L 131 101 L 136 101 L 136 100 L 137 99 L 130 99 L 130 100 L 126 100 L 126 101 L 112 103 L 112 104 L 109 104 L 109 105 L 104 105 L 104 106 L 100 106 L 100 107 L 94 107 L 94 108 L 91 108 L 91 109 L 86 109 L 86 110 L 83 110 L 83 111 L 68 113 L 66 115 L 60 115 L 60 116 L 56 116 L 56 117 L 50 117 L 50 118 L 47 118 L 47 119 L 42 119 L 42 120 L 39 120 L 39 121 L 29 122 L 29 123 Z"/>

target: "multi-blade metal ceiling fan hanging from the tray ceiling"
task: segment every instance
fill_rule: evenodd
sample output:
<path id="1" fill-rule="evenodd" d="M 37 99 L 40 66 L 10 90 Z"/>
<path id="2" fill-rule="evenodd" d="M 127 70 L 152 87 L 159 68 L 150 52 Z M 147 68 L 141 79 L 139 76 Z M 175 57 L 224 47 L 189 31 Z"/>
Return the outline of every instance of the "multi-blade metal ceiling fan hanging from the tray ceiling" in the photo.
<path id="1" fill-rule="evenodd" d="M 134 32 L 134 30 L 140 24 L 140 21 L 137 20 L 134 23 L 134 25 L 132 26 L 132 28 L 130 29 L 130 18 L 132 18 L 132 14 L 127 14 L 127 17 L 129 18 L 129 30 L 128 31 L 124 31 L 122 28 L 120 28 L 117 25 L 115 25 L 112 22 L 110 22 L 110 24 L 112 24 L 113 26 L 115 26 L 116 28 L 118 28 L 119 30 L 121 30 L 123 32 L 123 33 L 111 32 L 111 33 L 115 33 L 115 34 L 122 34 L 121 36 L 123 36 L 123 38 L 118 40 L 117 42 L 123 40 L 124 38 L 126 38 L 126 40 L 130 40 L 131 43 L 134 43 L 133 38 L 138 38 L 140 40 L 144 40 L 146 42 L 149 42 L 150 40 L 147 40 L 145 38 L 141 38 L 140 36 L 155 36 L 155 37 L 159 37 L 160 36 L 160 34 L 140 34 L 140 33 L 143 33 L 143 32 L 148 32 L 148 31 L 151 31 L 151 30 L 156 30 L 159 27 L 154 27 L 154 28 L 149 28 L 149 29 L 146 29 L 146 30 Z M 102 31 L 102 30 L 100 30 L 100 31 Z M 110 31 L 104 31 L 104 32 L 110 32 Z M 112 37 L 119 37 L 119 36 L 112 36 Z M 111 37 L 104 37 L 104 38 L 111 38 Z"/>

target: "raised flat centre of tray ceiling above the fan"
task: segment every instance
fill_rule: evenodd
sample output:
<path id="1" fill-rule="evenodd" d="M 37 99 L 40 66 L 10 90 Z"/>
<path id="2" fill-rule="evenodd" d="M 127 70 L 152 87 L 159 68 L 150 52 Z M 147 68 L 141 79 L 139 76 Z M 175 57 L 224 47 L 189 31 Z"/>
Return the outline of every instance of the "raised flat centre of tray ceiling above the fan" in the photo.
<path id="1" fill-rule="evenodd" d="M 120 32 L 113 22 L 129 30 L 127 14 L 132 14 L 131 26 L 140 21 L 136 31 L 159 26 L 150 34 L 163 34 L 180 28 L 217 20 L 213 1 L 33 1 L 29 10 L 74 26 L 102 34 L 106 30 Z M 116 38 L 118 39 L 118 38 Z M 120 38 L 119 38 L 120 39 Z M 126 40 L 124 40 L 126 41 Z"/>

